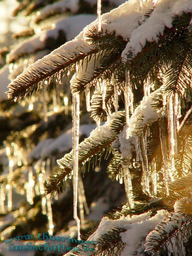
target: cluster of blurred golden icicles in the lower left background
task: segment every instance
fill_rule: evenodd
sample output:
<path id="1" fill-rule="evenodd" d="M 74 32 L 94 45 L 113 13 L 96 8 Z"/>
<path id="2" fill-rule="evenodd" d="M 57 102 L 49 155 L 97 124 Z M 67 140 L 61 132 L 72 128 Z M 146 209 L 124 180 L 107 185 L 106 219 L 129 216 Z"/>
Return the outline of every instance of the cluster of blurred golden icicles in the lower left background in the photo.
<path id="1" fill-rule="evenodd" d="M 23 148 L 18 147 L 16 143 L 12 143 L 13 147 L 13 155 L 11 154 L 11 146 L 6 145 L 5 153 L 8 158 L 8 166 L 9 166 L 9 173 L 7 182 L 2 183 L 0 187 L 0 212 L 7 213 L 12 211 L 12 189 L 16 187 L 13 180 L 13 167 L 22 166 L 22 161 L 25 162 L 24 155 L 22 154 Z M 22 159 L 22 161 L 21 161 Z M 36 169 L 36 176 L 37 179 L 35 180 L 35 176 L 33 175 L 33 170 Z M 53 234 L 53 219 L 52 219 L 52 208 L 51 208 L 51 198 L 50 195 L 44 195 L 44 184 L 43 181 L 47 179 L 50 175 L 50 159 L 48 158 L 46 161 L 39 161 L 36 163 L 35 166 L 22 166 L 21 170 L 27 172 L 28 175 L 26 176 L 27 180 L 24 184 L 24 189 L 20 190 L 20 193 L 24 195 L 26 192 L 26 199 L 29 204 L 33 204 L 33 198 L 36 195 L 41 195 L 41 206 L 42 206 L 42 213 L 47 215 L 48 218 L 48 232 L 50 235 Z M 41 170 L 41 172 L 39 172 Z M 5 205 L 5 200 L 7 197 L 7 205 Z"/>

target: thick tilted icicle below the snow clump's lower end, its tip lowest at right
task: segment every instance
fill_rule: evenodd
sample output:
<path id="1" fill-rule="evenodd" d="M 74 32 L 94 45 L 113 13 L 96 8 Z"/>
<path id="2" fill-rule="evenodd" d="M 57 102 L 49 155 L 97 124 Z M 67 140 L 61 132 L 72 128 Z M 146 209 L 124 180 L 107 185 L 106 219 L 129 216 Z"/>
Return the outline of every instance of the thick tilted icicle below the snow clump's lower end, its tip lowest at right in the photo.
<path id="1" fill-rule="evenodd" d="M 133 200 L 132 200 L 132 181 L 131 181 L 131 174 L 129 171 L 129 161 L 126 159 L 124 160 L 124 163 L 122 164 L 123 169 L 123 179 L 125 184 L 125 192 L 127 196 L 127 202 L 129 204 L 129 207 L 132 208 L 134 206 Z"/>

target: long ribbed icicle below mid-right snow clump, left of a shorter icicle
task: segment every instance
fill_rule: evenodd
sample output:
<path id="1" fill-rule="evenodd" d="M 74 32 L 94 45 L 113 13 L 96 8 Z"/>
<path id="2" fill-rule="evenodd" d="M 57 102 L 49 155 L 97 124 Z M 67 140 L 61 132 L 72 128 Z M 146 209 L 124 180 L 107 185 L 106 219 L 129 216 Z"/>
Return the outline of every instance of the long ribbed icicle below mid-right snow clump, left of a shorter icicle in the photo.
<path id="1" fill-rule="evenodd" d="M 146 142 L 146 129 L 143 129 L 139 137 L 140 151 L 142 156 L 142 169 L 143 169 L 143 189 L 149 192 L 149 171 L 148 171 L 148 158 L 147 158 L 147 142 Z"/>

